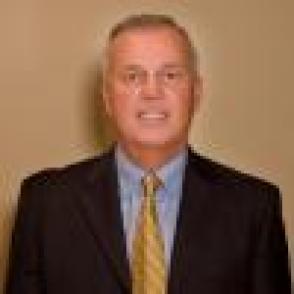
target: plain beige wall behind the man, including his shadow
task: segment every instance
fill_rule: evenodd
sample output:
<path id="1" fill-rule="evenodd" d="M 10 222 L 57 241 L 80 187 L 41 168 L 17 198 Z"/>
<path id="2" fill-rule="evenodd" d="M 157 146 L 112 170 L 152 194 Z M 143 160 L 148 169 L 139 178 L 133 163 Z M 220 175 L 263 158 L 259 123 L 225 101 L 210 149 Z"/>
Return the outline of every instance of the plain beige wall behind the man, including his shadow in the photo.
<path id="1" fill-rule="evenodd" d="M 0 280 L 20 180 L 85 158 L 104 138 L 99 52 L 110 25 L 132 12 L 187 26 L 205 80 L 191 142 L 280 185 L 294 253 L 292 0 L 0 1 Z"/>

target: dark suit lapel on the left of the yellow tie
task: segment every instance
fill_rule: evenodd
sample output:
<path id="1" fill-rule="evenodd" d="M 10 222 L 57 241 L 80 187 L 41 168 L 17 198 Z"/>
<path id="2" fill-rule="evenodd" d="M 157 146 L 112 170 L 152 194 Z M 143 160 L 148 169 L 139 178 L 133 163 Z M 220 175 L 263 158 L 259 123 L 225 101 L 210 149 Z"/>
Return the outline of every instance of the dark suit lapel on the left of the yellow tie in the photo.
<path id="1" fill-rule="evenodd" d="M 118 196 L 117 172 L 113 151 L 95 161 L 86 184 L 76 199 L 99 249 L 103 250 L 113 272 L 125 289 L 130 289 L 126 244 Z"/>

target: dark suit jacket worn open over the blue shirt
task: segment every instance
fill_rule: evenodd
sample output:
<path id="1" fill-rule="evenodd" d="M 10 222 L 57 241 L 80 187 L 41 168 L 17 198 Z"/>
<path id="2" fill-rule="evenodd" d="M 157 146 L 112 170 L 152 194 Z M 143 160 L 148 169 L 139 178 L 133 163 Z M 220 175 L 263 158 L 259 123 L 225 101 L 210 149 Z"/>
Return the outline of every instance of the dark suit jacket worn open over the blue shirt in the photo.
<path id="1" fill-rule="evenodd" d="M 290 294 L 278 189 L 189 151 L 170 294 Z M 9 294 L 130 293 L 113 152 L 24 181 Z"/>

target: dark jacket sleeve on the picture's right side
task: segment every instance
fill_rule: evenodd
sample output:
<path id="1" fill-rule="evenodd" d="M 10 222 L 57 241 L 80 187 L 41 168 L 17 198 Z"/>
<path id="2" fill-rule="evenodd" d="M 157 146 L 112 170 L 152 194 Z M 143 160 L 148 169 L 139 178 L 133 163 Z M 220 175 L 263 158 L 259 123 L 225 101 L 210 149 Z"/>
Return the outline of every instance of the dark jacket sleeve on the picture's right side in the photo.
<path id="1" fill-rule="evenodd" d="M 291 294 L 290 262 L 281 197 L 277 188 L 269 190 L 259 218 L 252 293 Z"/>

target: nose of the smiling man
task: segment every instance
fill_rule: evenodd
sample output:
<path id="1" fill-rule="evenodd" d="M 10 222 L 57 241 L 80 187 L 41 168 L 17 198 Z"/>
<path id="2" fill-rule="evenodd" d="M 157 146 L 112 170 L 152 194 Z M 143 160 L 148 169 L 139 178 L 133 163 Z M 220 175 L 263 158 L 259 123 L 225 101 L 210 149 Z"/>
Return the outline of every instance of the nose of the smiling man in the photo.
<path id="1" fill-rule="evenodd" d="M 141 85 L 141 96 L 146 100 L 156 100 L 162 97 L 162 87 L 156 74 L 150 73 Z"/>

